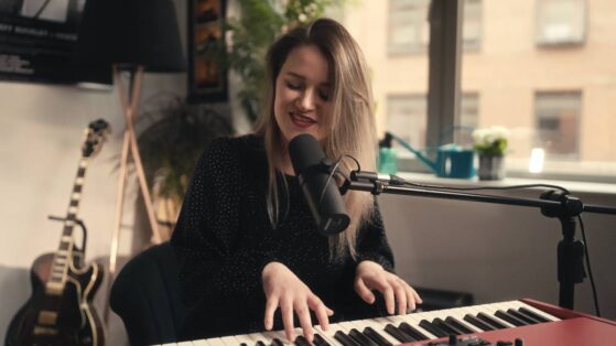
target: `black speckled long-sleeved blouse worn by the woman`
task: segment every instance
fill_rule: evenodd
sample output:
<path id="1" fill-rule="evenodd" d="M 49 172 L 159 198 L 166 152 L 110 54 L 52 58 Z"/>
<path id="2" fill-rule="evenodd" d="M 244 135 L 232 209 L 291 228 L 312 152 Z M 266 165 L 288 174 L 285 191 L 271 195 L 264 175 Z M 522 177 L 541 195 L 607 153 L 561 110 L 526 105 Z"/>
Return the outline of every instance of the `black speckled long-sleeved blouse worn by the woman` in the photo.
<path id="1" fill-rule="evenodd" d="M 271 261 L 287 266 L 333 309 L 331 321 L 382 312 L 382 306 L 364 303 L 353 290 L 355 267 L 361 260 L 393 270 L 378 206 L 358 231 L 356 259 L 348 252 L 332 259 L 328 239 L 316 231 L 298 179 L 281 174 L 281 183 L 282 179 L 288 194 L 281 194 L 282 212 L 274 229 L 267 210 L 262 138 L 218 139 L 201 158 L 171 239 L 191 311 L 185 338 L 263 331 L 261 271 Z M 282 327 L 277 313 L 274 328 Z"/>

